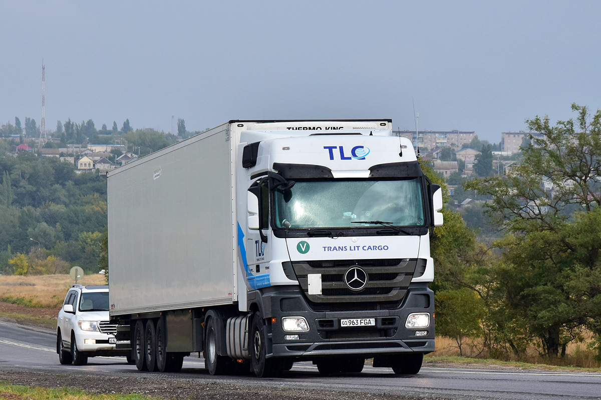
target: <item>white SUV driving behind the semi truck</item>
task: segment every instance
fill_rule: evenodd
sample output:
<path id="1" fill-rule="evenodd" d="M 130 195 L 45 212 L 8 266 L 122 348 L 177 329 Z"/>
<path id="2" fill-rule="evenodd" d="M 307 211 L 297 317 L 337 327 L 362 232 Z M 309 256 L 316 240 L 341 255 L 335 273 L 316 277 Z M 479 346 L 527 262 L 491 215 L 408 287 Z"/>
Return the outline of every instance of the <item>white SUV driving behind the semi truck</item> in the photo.
<path id="1" fill-rule="evenodd" d="M 117 326 L 109 321 L 109 287 L 73 285 L 56 321 L 56 353 L 61 364 L 84 365 L 88 357 L 127 356 L 115 348 Z"/>

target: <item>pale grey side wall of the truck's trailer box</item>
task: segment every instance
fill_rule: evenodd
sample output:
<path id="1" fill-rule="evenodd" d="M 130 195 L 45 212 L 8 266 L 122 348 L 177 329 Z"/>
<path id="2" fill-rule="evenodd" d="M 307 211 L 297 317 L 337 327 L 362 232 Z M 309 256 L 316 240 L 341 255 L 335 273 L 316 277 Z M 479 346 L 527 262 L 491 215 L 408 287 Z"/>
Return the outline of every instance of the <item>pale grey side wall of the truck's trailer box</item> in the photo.
<path id="1" fill-rule="evenodd" d="M 109 174 L 111 315 L 236 298 L 236 206 L 229 124 Z"/>

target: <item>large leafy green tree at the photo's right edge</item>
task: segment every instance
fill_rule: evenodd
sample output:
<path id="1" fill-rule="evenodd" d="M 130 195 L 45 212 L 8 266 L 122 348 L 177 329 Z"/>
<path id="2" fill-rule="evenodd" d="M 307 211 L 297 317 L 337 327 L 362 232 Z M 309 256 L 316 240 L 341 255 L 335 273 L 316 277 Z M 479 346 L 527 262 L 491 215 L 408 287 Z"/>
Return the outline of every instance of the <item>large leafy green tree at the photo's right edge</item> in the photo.
<path id="1" fill-rule="evenodd" d="M 601 110 L 572 110 L 576 121 L 526 120 L 538 135 L 529 136 L 522 163 L 466 184 L 492 197 L 487 213 L 507 232 L 495 271 L 505 312 L 528 321 L 522 336 L 538 338 L 552 357 L 584 327 L 601 356 Z"/>

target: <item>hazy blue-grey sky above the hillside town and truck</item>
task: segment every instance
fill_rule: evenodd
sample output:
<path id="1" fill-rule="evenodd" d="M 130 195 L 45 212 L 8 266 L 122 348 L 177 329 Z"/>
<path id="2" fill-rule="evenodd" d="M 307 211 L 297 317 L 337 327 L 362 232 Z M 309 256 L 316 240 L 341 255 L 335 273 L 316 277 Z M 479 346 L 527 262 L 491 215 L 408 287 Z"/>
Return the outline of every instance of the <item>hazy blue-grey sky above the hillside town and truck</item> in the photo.
<path id="1" fill-rule="evenodd" d="M 601 108 L 601 1 L 0 0 L 0 124 L 391 118 L 498 143 Z M 415 118 L 415 112 L 419 118 Z"/>

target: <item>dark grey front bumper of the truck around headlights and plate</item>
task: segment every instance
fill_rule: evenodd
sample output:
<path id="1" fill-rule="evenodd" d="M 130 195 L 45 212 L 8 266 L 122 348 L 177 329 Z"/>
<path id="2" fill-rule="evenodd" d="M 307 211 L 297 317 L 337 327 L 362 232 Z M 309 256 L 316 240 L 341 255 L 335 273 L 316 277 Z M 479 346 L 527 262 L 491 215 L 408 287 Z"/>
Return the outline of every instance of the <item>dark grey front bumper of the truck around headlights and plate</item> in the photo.
<path id="1" fill-rule="evenodd" d="M 276 323 L 265 328 L 267 357 L 315 359 L 353 354 L 371 358 L 379 354 L 435 351 L 434 294 L 426 283 L 410 285 L 403 302 L 394 309 L 380 309 L 379 306 L 366 309 L 370 308 L 367 304 L 361 309 L 361 303 L 356 303 L 353 305 L 355 311 L 314 311 L 294 287 L 263 293 L 262 299 L 265 317 L 276 318 Z M 374 308 L 373 303 L 371 308 Z M 415 312 L 430 314 L 428 327 L 405 327 L 407 316 Z M 304 317 L 310 330 L 284 332 L 281 318 L 293 316 Z M 347 318 L 374 318 L 375 325 L 340 326 L 340 321 Z M 287 339 L 287 335 L 297 335 L 297 338 Z"/>

